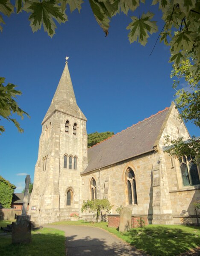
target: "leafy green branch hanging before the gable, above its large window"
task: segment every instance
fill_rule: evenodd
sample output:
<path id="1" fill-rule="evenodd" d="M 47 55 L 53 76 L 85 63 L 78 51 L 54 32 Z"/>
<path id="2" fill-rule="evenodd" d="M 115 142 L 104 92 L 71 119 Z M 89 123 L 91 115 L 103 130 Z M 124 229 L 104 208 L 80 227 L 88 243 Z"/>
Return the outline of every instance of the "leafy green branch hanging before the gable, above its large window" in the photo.
<path id="1" fill-rule="evenodd" d="M 165 144 L 172 145 L 166 152 L 170 156 L 196 156 L 197 159 L 200 157 L 200 143 L 195 138 L 188 139 L 186 142 L 181 138 L 170 139 L 169 135 L 165 136 Z M 195 161 L 195 159 L 193 160 Z"/>

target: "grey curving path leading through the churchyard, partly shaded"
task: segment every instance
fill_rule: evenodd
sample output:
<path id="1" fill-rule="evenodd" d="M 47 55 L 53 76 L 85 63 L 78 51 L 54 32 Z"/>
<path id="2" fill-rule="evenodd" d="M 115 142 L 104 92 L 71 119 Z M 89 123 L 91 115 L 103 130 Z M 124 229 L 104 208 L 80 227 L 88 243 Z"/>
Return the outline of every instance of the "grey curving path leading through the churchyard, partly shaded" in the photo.
<path id="1" fill-rule="evenodd" d="M 67 256 L 146 255 L 116 236 L 99 228 L 71 225 L 45 225 L 44 227 L 65 231 Z"/>

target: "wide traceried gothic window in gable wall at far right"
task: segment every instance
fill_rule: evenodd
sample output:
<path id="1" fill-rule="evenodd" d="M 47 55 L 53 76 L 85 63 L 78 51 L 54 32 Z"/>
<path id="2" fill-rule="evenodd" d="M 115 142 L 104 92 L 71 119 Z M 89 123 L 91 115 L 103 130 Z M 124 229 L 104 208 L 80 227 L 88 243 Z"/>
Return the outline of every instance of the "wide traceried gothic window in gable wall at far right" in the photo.
<path id="1" fill-rule="evenodd" d="M 184 186 L 200 184 L 199 172 L 194 157 L 182 156 L 179 158 L 182 183 Z"/>

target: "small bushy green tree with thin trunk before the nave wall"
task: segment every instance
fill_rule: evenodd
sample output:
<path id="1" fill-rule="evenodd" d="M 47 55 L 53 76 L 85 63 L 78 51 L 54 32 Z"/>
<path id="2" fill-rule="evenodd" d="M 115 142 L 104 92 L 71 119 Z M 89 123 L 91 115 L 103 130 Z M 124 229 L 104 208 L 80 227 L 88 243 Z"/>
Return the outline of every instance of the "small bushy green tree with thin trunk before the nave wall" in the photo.
<path id="1" fill-rule="evenodd" d="M 100 220 L 101 211 L 106 210 L 109 212 L 112 209 L 112 206 L 108 199 L 94 199 L 94 200 L 87 200 L 83 202 L 81 212 L 96 212 L 96 219 L 97 221 Z"/>

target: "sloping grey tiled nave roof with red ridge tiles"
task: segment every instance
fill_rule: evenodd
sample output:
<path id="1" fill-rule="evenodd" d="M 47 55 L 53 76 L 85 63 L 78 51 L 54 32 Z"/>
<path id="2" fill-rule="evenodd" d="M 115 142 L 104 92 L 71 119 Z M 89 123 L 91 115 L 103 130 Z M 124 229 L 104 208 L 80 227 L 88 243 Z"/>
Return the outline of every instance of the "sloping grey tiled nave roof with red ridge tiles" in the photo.
<path id="1" fill-rule="evenodd" d="M 169 108 L 132 125 L 88 149 L 88 166 L 83 174 L 153 150 Z"/>

